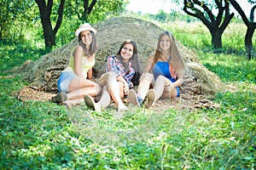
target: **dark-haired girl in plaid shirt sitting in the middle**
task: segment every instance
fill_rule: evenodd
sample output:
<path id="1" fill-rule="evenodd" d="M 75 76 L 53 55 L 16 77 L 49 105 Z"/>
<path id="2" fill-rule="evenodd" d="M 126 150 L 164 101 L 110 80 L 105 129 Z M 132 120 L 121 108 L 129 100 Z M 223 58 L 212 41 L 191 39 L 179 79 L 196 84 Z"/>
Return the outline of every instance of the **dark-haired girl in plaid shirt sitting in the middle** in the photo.
<path id="1" fill-rule="evenodd" d="M 111 98 L 118 111 L 127 110 L 122 99 L 128 94 L 129 89 L 139 82 L 139 62 L 137 57 L 137 44 L 126 40 L 121 44 L 116 55 L 107 59 L 106 73 L 100 77 L 98 84 L 103 87 L 102 97 L 96 103 L 90 95 L 84 96 L 84 102 L 95 111 L 110 105 Z"/>

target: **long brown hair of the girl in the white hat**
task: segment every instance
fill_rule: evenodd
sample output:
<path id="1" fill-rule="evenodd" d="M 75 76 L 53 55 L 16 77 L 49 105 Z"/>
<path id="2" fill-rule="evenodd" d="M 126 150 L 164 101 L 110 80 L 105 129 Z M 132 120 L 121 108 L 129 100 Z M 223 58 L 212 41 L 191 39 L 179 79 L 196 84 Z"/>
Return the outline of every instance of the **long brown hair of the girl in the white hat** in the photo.
<path id="1" fill-rule="evenodd" d="M 96 50 L 97 50 L 95 33 L 93 31 L 90 31 L 90 35 L 92 39 L 90 43 L 90 48 L 87 49 L 84 42 L 82 41 L 81 35 L 79 34 L 79 45 L 84 49 L 85 56 L 91 56 L 93 54 L 96 54 Z"/>

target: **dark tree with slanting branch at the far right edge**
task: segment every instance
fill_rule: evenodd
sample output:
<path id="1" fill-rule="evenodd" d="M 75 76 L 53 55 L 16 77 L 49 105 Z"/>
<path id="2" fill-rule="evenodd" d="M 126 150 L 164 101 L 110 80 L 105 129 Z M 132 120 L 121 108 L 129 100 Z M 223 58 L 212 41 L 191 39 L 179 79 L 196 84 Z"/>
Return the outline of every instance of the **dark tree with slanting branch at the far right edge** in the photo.
<path id="1" fill-rule="evenodd" d="M 243 20 L 244 24 L 247 26 L 247 33 L 245 36 L 244 43 L 247 51 L 247 59 L 250 60 L 254 58 L 254 55 L 255 55 L 252 38 L 253 38 L 253 33 L 256 29 L 256 22 L 254 22 L 254 11 L 256 9 L 256 5 L 254 5 L 253 8 L 251 9 L 250 18 L 247 19 L 246 14 L 241 9 L 240 5 L 236 2 L 236 0 L 230 0 L 230 3 L 234 8 L 236 8 L 236 11 L 241 15 L 241 20 Z M 254 2 L 251 1 L 251 3 L 256 3 L 256 1 Z"/>

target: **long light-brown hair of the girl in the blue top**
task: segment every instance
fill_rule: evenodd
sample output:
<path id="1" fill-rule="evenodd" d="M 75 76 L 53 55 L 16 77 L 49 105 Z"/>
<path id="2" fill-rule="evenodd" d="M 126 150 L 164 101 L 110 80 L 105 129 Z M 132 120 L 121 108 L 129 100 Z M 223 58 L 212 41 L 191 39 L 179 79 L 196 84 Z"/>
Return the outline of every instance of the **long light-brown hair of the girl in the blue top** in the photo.
<path id="1" fill-rule="evenodd" d="M 180 77 L 185 73 L 186 65 L 183 60 L 182 54 L 177 48 L 177 40 L 175 39 L 175 37 L 172 35 L 170 31 L 164 31 L 160 34 L 158 38 L 157 48 L 154 54 L 154 63 L 156 63 L 162 55 L 161 48 L 160 48 L 160 41 L 161 41 L 161 38 L 164 36 L 168 36 L 171 42 L 171 48 L 170 48 L 171 59 L 168 58 L 169 65 L 171 65 L 175 69 L 175 71 L 177 72 L 177 76 Z"/>

